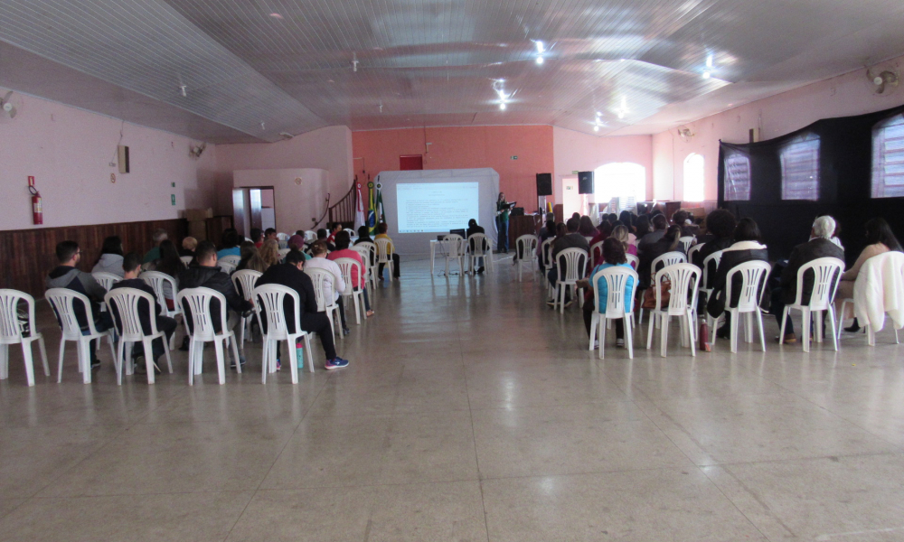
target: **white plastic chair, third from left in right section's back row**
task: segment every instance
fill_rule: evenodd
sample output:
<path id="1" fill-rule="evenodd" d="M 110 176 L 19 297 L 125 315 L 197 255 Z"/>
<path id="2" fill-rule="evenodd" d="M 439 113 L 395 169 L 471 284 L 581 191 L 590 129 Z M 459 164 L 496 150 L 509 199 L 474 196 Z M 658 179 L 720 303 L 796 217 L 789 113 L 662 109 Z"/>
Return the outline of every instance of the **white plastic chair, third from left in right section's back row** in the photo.
<path id="1" fill-rule="evenodd" d="M 725 312 L 731 315 L 731 353 L 738 351 L 738 321 L 741 314 L 747 315 L 747 325 L 745 326 L 745 337 L 747 341 L 752 340 L 753 334 L 753 315 L 757 315 L 757 323 L 759 326 L 759 343 L 763 351 L 766 351 L 766 335 L 763 332 L 763 313 L 759 310 L 759 301 L 763 298 L 763 292 L 766 290 L 766 277 L 772 267 L 762 260 L 754 260 L 743 262 L 729 269 L 728 275 L 725 276 Z M 736 274 L 740 274 L 740 296 L 738 298 L 738 306 L 731 307 L 731 297 L 733 295 L 732 279 Z M 712 318 L 707 315 L 707 325 L 710 328 L 710 344 L 716 341 L 716 324 L 721 319 Z"/>

